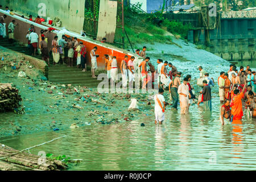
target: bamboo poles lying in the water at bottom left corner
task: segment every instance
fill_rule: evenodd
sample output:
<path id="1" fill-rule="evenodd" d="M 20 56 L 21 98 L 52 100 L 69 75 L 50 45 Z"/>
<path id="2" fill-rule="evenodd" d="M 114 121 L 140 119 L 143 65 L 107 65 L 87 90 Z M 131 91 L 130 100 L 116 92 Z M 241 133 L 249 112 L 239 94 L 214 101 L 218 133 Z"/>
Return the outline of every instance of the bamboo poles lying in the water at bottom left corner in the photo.
<path id="1" fill-rule="evenodd" d="M 0 143 L 0 171 L 51 171 L 66 169 L 60 160 L 44 159 L 38 155 L 21 152 Z"/>

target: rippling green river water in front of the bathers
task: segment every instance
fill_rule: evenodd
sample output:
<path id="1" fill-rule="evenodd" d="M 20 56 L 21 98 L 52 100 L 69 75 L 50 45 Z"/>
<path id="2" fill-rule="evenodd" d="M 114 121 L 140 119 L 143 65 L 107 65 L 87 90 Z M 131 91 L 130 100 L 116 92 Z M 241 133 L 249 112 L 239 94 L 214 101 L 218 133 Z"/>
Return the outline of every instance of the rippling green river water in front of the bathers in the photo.
<path id="1" fill-rule="evenodd" d="M 218 102 L 218 98 L 213 99 Z M 38 132 L 0 138 L 18 150 L 67 135 L 30 150 L 83 159 L 71 170 L 255 170 L 255 120 L 220 125 L 219 105 L 212 114 L 192 106 L 189 115 L 167 110 L 155 126 L 154 114 L 117 125 Z M 38 120 L 43 120 L 38 115 Z M 141 122 L 145 127 L 141 127 Z M 216 158 L 215 158 L 216 156 Z"/>

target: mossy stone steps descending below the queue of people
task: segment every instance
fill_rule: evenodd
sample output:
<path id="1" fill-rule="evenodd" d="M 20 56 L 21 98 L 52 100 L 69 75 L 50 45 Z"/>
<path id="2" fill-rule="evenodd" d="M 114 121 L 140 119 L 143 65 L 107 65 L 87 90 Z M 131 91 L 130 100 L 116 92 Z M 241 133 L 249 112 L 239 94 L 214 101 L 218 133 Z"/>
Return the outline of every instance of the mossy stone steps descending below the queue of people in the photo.
<path id="1" fill-rule="evenodd" d="M 6 38 L 0 40 L 0 46 L 28 55 L 27 47 L 20 46 L 18 42 L 10 43 Z M 38 59 L 42 59 L 40 55 L 36 55 L 35 57 Z M 97 78 L 92 78 L 92 74 L 90 72 L 89 67 L 87 68 L 87 72 L 82 72 L 82 69 L 77 69 L 76 66 L 67 67 L 65 63 L 52 65 L 51 55 L 49 60 L 50 60 L 50 67 L 48 71 L 48 78 L 49 78 L 49 81 L 51 82 L 55 82 L 57 84 L 66 84 L 66 85 L 72 84 L 72 85 L 88 86 L 90 88 L 97 87 L 97 85 L 101 82 L 101 81 L 98 81 Z"/>

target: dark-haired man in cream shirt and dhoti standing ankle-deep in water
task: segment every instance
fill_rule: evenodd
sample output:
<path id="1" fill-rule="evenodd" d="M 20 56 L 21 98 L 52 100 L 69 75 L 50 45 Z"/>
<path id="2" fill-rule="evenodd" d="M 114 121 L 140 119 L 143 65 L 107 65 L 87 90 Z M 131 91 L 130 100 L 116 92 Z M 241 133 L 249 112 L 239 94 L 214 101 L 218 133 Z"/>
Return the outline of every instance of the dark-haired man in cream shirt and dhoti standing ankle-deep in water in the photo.
<path id="1" fill-rule="evenodd" d="M 177 90 L 180 98 L 180 114 L 188 113 L 188 100 L 191 98 L 188 88 L 188 78 L 185 77 L 183 80 L 183 84 L 179 85 Z"/>

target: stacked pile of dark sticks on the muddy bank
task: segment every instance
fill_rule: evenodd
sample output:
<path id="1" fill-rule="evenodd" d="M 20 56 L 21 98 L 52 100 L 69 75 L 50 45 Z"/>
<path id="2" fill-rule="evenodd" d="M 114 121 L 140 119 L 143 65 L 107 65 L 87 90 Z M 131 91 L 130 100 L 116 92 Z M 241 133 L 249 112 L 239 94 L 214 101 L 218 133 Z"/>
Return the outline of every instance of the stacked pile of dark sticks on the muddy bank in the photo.
<path id="1" fill-rule="evenodd" d="M 12 83 L 0 83 L 0 113 L 14 111 L 20 107 L 22 97 L 19 90 L 11 87 Z"/>

